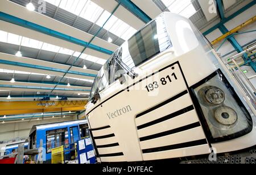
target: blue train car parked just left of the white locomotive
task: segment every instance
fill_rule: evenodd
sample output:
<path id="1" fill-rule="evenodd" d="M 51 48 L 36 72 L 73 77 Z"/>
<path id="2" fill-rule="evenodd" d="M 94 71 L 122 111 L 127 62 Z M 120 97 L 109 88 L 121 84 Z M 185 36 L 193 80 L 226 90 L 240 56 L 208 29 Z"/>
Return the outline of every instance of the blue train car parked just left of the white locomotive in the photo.
<path id="1" fill-rule="evenodd" d="M 65 150 L 69 150 L 73 143 L 86 136 L 89 136 L 87 120 L 36 125 L 30 131 L 30 149 L 39 148 L 42 140 L 43 162 L 51 163 L 52 148 L 64 145 Z"/>

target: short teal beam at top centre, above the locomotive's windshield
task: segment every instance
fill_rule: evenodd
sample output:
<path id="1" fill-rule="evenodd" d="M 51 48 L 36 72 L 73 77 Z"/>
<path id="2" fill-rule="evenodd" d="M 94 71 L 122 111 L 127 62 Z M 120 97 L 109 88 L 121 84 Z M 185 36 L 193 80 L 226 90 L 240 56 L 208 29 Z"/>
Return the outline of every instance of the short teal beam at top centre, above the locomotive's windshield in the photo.
<path id="1" fill-rule="evenodd" d="M 123 7 L 132 12 L 135 16 L 138 16 L 144 23 L 150 22 L 152 19 L 144 13 L 138 6 L 136 6 L 130 0 L 117 0 Z"/>

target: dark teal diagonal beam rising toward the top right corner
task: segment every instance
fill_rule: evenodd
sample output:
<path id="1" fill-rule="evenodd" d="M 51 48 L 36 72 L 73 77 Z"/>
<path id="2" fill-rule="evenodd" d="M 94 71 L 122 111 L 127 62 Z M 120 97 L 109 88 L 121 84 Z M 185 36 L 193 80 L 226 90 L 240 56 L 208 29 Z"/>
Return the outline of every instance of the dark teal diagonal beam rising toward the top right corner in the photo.
<path id="1" fill-rule="evenodd" d="M 214 30 L 216 30 L 218 27 L 220 27 L 221 25 L 225 24 L 229 20 L 233 19 L 237 15 L 240 15 L 242 12 L 244 12 L 245 10 L 247 10 L 250 7 L 254 6 L 255 4 L 256 4 L 256 0 L 253 0 L 252 2 L 248 3 L 246 6 L 242 7 L 242 9 L 237 10 L 236 12 L 234 12 L 234 14 L 228 16 L 227 18 L 222 19 L 220 23 L 216 24 L 215 26 L 213 26 L 212 28 L 210 28 L 209 30 L 204 32 L 203 35 L 206 36 L 206 35 L 210 34 Z"/>

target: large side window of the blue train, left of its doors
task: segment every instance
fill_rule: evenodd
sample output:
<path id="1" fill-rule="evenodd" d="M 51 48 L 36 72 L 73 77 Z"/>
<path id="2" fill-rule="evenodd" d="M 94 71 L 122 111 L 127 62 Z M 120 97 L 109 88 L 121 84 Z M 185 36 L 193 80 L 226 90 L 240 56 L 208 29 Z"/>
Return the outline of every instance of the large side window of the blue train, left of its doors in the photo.
<path id="1" fill-rule="evenodd" d="M 52 151 L 52 148 L 60 147 L 68 144 L 68 129 L 46 131 L 47 153 Z"/>

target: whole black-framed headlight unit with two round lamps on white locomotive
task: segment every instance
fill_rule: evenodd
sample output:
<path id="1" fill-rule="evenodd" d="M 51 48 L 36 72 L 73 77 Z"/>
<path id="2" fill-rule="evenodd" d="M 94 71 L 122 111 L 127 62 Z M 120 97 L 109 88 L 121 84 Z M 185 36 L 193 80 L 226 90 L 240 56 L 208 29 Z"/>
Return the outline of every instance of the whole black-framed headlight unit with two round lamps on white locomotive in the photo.
<path id="1" fill-rule="evenodd" d="M 251 116 L 221 70 L 191 87 L 196 110 L 212 143 L 238 138 L 253 129 Z"/>

